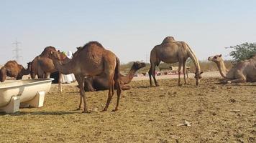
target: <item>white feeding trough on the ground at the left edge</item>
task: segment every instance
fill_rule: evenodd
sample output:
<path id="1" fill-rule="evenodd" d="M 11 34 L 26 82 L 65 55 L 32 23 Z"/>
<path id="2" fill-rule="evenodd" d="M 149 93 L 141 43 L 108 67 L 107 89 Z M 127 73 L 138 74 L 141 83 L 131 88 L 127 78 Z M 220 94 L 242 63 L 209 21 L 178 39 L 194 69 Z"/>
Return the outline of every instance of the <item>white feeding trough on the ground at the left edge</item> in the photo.
<path id="1" fill-rule="evenodd" d="M 42 107 L 52 80 L 26 79 L 0 83 L 0 112 L 18 112 L 20 105 Z"/>

